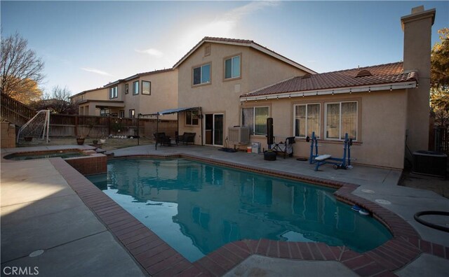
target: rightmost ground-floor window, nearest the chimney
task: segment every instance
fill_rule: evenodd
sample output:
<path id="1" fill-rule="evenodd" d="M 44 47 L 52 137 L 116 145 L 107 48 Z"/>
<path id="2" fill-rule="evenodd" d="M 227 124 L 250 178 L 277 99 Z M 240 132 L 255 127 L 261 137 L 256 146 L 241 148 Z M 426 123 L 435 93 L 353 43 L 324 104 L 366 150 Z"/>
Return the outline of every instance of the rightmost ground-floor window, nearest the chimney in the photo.
<path id="1" fill-rule="evenodd" d="M 357 101 L 326 103 L 326 139 L 342 140 L 347 133 L 349 139 L 357 140 L 357 108 Z"/>

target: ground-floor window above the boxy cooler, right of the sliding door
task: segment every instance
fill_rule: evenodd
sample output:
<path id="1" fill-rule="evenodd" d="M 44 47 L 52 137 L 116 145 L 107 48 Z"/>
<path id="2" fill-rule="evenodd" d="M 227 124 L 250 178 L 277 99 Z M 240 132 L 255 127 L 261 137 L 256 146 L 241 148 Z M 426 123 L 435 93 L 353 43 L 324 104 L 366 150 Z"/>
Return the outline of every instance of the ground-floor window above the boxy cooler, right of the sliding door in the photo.
<path id="1" fill-rule="evenodd" d="M 267 135 L 269 106 L 241 109 L 241 126 L 249 127 L 250 134 Z"/>

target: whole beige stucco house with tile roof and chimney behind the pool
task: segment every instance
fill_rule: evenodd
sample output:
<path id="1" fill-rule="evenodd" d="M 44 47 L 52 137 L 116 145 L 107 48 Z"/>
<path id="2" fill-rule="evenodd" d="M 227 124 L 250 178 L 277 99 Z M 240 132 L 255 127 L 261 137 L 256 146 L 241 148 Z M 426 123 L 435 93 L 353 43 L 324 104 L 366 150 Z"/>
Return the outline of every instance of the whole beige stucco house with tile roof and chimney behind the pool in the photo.
<path id="1" fill-rule="evenodd" d="M 297 156 L 309 155 L 311 132 L 321 152 L 342 156 L 348 133 L 356 162 L 402 169 L 406 147 L 428 148 L 434 17 L 434 9 L 422 6 L 401 17 L 403 62 L 329 73 L 254 41 L 203 38 L 174 66 L 177 106 L 202 109 L 200 116 L 180 115 L 180 132 L 199 134 L 196 144 L 224 145 L 229 127 L 248 126 L 250 141 L 267 148 L 265 122 L 273 118 L 276 141 L 295 136 Z"/>

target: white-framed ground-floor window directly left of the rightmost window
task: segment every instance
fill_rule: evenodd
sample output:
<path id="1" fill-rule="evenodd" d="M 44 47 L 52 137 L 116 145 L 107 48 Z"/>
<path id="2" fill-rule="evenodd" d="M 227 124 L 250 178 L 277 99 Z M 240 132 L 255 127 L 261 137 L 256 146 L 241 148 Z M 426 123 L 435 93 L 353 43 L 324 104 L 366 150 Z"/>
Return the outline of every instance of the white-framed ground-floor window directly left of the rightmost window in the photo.
<path id="1" fill-rule="evenodd" d="M 315 132 L 320 137 L 320 104 L 298 104 L 294 106 L 295 122 L 293 130 L 296 137 L 305 138 Z"/>

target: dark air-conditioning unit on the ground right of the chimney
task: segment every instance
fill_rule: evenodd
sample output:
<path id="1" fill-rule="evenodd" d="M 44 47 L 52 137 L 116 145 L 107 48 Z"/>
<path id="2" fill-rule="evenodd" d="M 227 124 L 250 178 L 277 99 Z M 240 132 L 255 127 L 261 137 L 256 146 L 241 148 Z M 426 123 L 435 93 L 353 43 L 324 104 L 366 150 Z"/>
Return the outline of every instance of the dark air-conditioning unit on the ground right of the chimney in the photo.
<path id="1" fill-rule="evenodd" d="M 442 152 L 419 150 L 413 152 L 412 173 L 445 178 L 448 155 Z"/>

